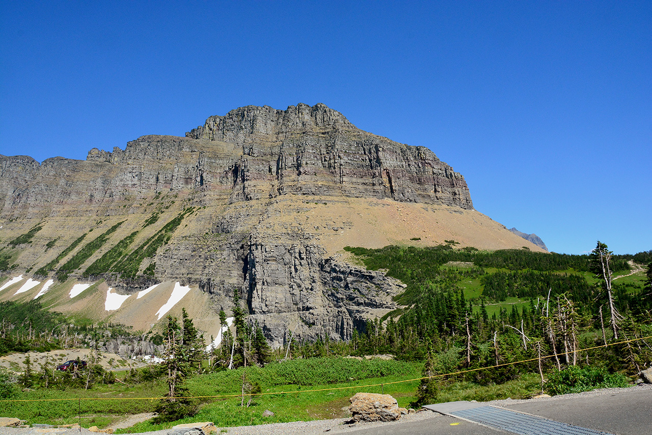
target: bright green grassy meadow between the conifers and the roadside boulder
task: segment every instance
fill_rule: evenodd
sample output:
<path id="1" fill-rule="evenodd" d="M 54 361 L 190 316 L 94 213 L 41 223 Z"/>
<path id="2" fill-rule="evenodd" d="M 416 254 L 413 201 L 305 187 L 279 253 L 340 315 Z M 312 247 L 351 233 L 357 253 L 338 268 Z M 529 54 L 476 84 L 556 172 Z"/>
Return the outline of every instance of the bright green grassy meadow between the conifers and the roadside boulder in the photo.
<path id="1" fill-rule="evenodd" d="M 117 433 L 164 430 L 181 423 L 212 421 L 217 427 L 259 425 L 288 421 L 309 421 L 346 417 L 349 398 L 355 393 L 385 393 L 396 398 L 398 405 L 409 408 L 415 400 L 419 381 L 406 381 L 421 376 L 421 364 L 401 361 L 380 361 L 344 358 L 320 358 L 269 364 L 265 368 L 250 367 L 246 377 L 261 385 L 261 393 L 250 407 L 241 408 L 241 379 L 245 370 L 227 370 L 204 374 L 186 381 L 192 396 L 235 395 L 228 398 L 202 398 L 197 415 L 173 423 L 153 425 L 138 423 Z M 378 376 L 381 375 L 381 376 Z M 299 383 L 288 383 L 298 379 Z M 357 377 L 357 379 L 355 379 Z M 400 383 L 393 383 L 402 381 Z M 306 385 L 310 384 L 310 385 Z M 383 385 L 378 385 L 383 384 Z M 372 386 L 370 386 L 372 385 Z M 527 398 L 540 390 L 539 376 L 526 374 L 501 385 L 481 387 L 468 381 L 441 381 L 437 402 L 454 400 L 496 400 Z M 321 390 L 321 391 L 319 391 Z M 16 399 L 55 399 L 48 402 L 0 402 L 0 413 L 25 419 L 28 423 L 64 425 L 78 423 L 81 406 L 82 427 L 104 428 L 125 415 L 151 412 L 156 400 L 166 391 L 164 379 L 136 385 L 97 385 L 92 390 L 37 390 L 18 393 Z M 140 400 L 138 400 L 140 398 Z M 81 400 L 80 400 L 81 399 Z M 89 400 L 96 399 L 96 400 Z M 129 400 L 134 399 L 134 400 Z M 244 402 L 248 398 L 245 398 Z M 272 417 L 262 417 L 264 410 Z"/>

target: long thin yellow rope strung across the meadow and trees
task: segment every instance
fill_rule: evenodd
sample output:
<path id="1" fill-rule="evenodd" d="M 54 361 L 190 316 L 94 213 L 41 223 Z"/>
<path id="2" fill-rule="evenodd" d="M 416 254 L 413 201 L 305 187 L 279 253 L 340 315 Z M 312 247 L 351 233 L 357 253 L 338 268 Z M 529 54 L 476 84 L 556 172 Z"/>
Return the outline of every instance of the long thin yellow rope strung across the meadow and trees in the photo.
<path id="1" fill-rule="evenodd" d="M 593 349 L 599 349 L 600 347 L 609 347 L 609 346 L 615 346 L 617 344 L 625 344 L 625 343 L 631 343 L 631 342 L 636 342 L 638 340 L 646 340 L 647 338 L 652 338 L 651 336 L 647 337 L 641 337 L 641 338 L 632 338 L 632 340 L 624 340 L 621 342 L 615 342 L 615 343 L 609 343 L 609 344 L 602 344 L 600 346 L 593 346 L 593 347 L 587 347 L 585 349 L 578 349 L 576 352 L 584 352 L 584 351 L 589 351 Z M 561 352 L 561 353 L 554 353 L 552 355 L 546 355 L 541 357 L 541 359 L 548 359 L 548 358 L 553 358 L 553 357 L 559 357 L 561 355 L 565 355 L 567 352 Z M 458 372 L 451 372 L 451 373 L 446 373 L 446 374 L 438 374 L 434 376 L 425 376 L 424 378 L 414 378 L 414 379 L 404 379 L 402 381 L 394 381 L 394 382 L 385 382 L 385 383 L 373 383 L 369 385 L 349 385 L 348 387 L 333 387 L 333 388 L 321 388 L 321 389 L 314 389 L 314 390 L 293 390 L 293 391 L 277 391 L 275 393 L 246 393 L 246 394 L 233 394 L 233 395 L 216 395 L 216 396 L 179 396 L 175 397 L 177 399 L 181 398 L 187 398 L 187 399 L 194 399 L 194 398 L 229 398 L 229 397 L 242 397 L 242 396 L 269 396 L 269 395 L 289 395 L 289 394 L 297 394 L 297 393 L 319 393 L 321 391 L 336 391 L 336 390 L 347 390 L 347 389 L 352 389 L 352 388 L 358 388 L 358 389 L 364 389 L 364 388 L 369 388 L 369 387 L 383 387 L 384 385 L 393 385 L 395 383 L 404 383 L 404 382 L 413 382 L 413 381 L 421 381 L 422 379 L 432 379 L 432 378 L 443 378 L 445 376 L 452 376 L 456 374 L 462 374 L 462 373 L 469 373 L 469 372 L 478 372 L 480 370 L 488 370 L 490 368 L 498 368 L 498 367 L 503 367 L 503 366 L 511 366 L 514 364 L 520 364 L 522 362 L 531 362 L 531 361 L 537 361 L 539 360 L 539 357 L 537 358 L 531 358 L 531 359 L 524 359 L 522 361 L 514 361 L 514 362 L 505 362 L 504 364 L 496 364 L 494 366 L 487 366 L 487 367 L 479 367 L 479 368 L 469 368 L 468 370 L 460 370 Z M 63 400 L 159 400 L 159 399 L 164 399 L 165 397 L 76 397 L 76 398 L 53 398 L 53 399 L 14 399 L 14 400 L 0 400 L 0 402 L 61 402 Z"/>

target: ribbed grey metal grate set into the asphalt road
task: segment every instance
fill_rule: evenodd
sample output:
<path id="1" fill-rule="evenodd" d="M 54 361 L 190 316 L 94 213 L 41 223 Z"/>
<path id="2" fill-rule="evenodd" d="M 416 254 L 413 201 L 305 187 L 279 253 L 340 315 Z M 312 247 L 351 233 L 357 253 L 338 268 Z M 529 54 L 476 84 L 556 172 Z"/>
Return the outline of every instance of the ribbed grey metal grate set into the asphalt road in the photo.
<path id="1" fill-rule="evenodd" d="M 544 419 L 495 406 L 482 406 L 471 410 L 452 411 L 450 415 L 460 417 L 488 427 L 520 435 L 605 435 L 608 432 L 567 425 L 559 421 Z"/>

